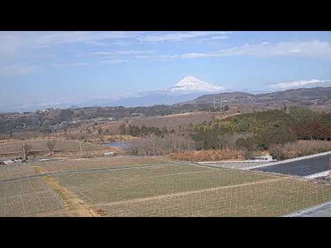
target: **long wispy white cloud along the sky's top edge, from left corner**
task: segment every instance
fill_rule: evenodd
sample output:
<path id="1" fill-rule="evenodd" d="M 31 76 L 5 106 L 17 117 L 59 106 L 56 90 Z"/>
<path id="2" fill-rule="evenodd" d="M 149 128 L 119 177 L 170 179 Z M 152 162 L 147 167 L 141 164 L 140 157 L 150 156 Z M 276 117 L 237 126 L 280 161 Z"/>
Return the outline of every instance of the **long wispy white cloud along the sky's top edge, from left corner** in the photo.
<path id="1" fill-rule="evenodd" d="M 225 35 L 231 32 L 128 32 L 128 31 L 107 31 L 107 32 L 0 32 L 0 55 L 14 54 L 24 49 L 48 48 L 52 45 L 87 43 L 91 45 L 112 45 L 128 43 L 128 41 L 141 42 L 164 42 L 184 41 L 197 37 L 212 35 Z M 107 41 L 107 42 L 105 42 Z"/>

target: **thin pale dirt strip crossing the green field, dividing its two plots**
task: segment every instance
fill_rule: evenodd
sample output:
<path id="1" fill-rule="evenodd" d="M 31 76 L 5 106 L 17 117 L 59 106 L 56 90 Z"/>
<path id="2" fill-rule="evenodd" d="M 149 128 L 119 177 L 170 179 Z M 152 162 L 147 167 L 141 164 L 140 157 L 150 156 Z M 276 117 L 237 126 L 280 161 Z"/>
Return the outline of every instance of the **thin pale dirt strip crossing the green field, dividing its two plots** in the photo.
<path id="1" fill-rule="evenodd" d="M 214 190 L 218 190 L 218 189 L 228 189 L 228 188 L 232 188 L 232 187 L 242 187 L 245 185 L 259 185 L 262 183 L 270 183 L 270 182 L 276 182 L 279 180 L 286 180 L 287 178 L 276 178 L 276 179 L 265 179 L 265 180 L 259 180 L 257 182 L 253 182 L 253 183 L 241 183 L 238 185 L 229 185 L 229 186 L 221 186 L 221 187 L 213 187 L 213 188 L 209 188 L 209 189 L 199 189 L 199 190 L 194 190 L 191 192 L 179 192 L 179 193 L 174 193 L 174 194 L 165 194 L 165 195 L 161 195 L 161 196 L 152 196 L 152 197 L 146 197 L 146 198 L 136 198 L 136 199 L 130 199 L 130 200 L 120 200 L 117 202 L 112 202 L 112 203 L 103 203 L 103 204 L 98 204 L 96 206 L 102 207 L 102 206 L 112 206 L 112 205 L 121 205 L 121 204 L 125 204 L 125 203 L 140 203 L 143 202 L 145 200 L 159 200 L 162 198 L 168 198 L 168 197 L 174 197 L 174 196 L 185 196 L 185 195 L 189 195 L 189 194 L 197 194 L 197 193 L 202 193 L 202 192 L 211 192 Z"/>

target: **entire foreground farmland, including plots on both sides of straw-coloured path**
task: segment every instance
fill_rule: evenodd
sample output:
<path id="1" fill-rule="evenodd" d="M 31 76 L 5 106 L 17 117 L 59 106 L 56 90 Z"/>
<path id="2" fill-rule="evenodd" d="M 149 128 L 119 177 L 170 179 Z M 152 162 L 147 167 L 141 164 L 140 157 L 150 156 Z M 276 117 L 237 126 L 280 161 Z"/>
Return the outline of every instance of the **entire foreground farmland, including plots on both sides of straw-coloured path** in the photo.
<path id="1" fill-rule="evenodd" d="M 331 200 L 328 184 L 159 157 L 30 167 L 39 176 L 1 176 L 0 216 L 283 216 Z"/>

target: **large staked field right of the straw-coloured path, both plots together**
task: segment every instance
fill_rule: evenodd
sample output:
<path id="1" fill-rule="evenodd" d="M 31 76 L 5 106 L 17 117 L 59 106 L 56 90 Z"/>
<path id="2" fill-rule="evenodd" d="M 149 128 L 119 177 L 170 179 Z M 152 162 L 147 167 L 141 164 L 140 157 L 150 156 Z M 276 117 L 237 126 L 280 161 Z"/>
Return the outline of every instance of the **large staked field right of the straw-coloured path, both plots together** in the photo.
<path id="1" fill-rule="evenodd" d="M 105 216 L 281 216 L 331 199 L 297 178 L 185 164 L 57 180 Z"/>

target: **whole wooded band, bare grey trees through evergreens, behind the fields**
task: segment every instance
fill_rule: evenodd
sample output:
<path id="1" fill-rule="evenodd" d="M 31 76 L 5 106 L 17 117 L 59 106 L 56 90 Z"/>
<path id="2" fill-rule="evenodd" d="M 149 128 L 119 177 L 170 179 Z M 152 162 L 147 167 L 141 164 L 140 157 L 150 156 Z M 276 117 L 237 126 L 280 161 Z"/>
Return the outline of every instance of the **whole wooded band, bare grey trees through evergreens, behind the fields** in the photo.
<path id="1" fill-rule="evenodd" d="M 133 143 L 132 154 L 218 150 L 229 158 L 231 154 L 253 158 L 267 152 L 283 159 L 331 149 L 331 114 L 313 112 L 307 107 L 285 107 L 177 124 L 122 125 L 121 132 L 139 137 Z"/>

